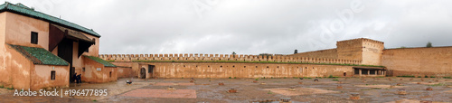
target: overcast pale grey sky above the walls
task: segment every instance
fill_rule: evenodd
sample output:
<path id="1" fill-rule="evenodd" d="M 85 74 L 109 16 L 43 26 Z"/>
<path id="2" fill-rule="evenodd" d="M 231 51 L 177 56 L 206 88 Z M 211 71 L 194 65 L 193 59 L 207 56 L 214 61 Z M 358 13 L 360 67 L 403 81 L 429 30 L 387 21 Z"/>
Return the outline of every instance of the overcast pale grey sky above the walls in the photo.
<path id="1" fill-rule="evenodd" d="M 289 54 L 369 38 L 452 45 L 449 0 L 18 0 L 92 28 L 101 54 Z"/>

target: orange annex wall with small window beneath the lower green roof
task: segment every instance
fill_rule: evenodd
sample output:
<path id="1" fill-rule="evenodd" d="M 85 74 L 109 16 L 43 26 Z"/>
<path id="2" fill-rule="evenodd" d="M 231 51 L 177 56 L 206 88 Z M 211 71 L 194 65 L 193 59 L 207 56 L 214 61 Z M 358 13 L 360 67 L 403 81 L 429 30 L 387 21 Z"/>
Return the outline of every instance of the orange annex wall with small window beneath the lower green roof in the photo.
<path id="1" fill-rule="evenodd" d="M 55 71 L 55 80 L 51 80 L 52 70 Z M 33 90 L 69 87 L 69 66 L 35 65 L 31 74 Z"/>

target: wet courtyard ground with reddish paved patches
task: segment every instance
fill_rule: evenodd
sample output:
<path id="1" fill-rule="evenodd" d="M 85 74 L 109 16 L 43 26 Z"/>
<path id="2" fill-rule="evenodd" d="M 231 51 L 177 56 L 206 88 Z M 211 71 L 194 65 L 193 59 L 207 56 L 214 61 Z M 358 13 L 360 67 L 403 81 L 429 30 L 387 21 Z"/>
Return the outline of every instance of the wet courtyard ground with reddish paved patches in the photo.
<path id="1" fill-rule="evenodd" d="M 293 103 L 452 101 L 452 79 L 290 78 L 259 79 L 258 83 L 253 83 L 255 79 L 194 79 L 193 83 L 192 79 L 133 79 L 132 85 L 127 85 L 126 80 L 129 79 L 66 88 L 108 89 L 106 97 L 14 97 L 14 90 L 0 89 L 0 102 L 246 103 L 281 98 L 291 98 Z M 229 93 L 229 89 L 236 89 L 237 93 Z M 398 94 L 402 90 L 407 94 Z M 350 99 L 350 94 L 359 94 L 361 99 Z"/>

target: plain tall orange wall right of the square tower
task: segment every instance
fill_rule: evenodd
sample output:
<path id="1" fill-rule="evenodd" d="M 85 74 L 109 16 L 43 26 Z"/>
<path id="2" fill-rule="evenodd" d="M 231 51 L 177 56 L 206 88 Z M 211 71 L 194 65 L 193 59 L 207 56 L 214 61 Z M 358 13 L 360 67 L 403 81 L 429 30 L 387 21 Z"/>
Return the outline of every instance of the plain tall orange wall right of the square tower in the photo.
<path id="1" fill-rule="evenodd" d="M 381 62 L 394 76 L 452 76 L 452 47 L 388 49 Z"/>

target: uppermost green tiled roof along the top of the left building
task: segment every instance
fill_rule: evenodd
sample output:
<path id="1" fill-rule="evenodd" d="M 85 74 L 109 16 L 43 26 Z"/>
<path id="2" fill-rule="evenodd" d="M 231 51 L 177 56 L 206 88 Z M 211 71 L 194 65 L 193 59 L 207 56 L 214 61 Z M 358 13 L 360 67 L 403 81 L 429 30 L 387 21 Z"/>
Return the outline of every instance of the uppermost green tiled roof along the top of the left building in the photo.
<path id="1" fill-rule="evenodd" d="M 0 5 L 0 12 L 4 12 L 4 11 L 11 11 L 11 12 L 18 13 L 18 14 L 24 14 L 24 15 L 27 15 L 27 16 L 32 16 L 34 18 L 42 19 L 42 20 L 48 21 L 50 23 L 61 24 L 61 25 L 68 26 L 68 27 L 71 27 L 73 29 L 79 30 L 79 31 L 84 32 L 84 33 L 89 33 L 89 34 L 91 34 L 93 36 L 100 37 L 100 35 L 98 33 L 94 32 L 94 31 L 92 31 L 92 29 L 88 29 L 88 28 L 82 27 L 79 24 L 71 23 L 71 22 L 62 20 L 62 19 L 60 19 L 58 17 L 54 17 L 52 15 L 49 15 L 49 14 L 43 14 L 41 12 L 34 11 L 33 8 L 27 7 L 27 6 L 22 5 L 20 3 L 14 5 L 14 4 L 5 2 L 5 4 Z"/>

